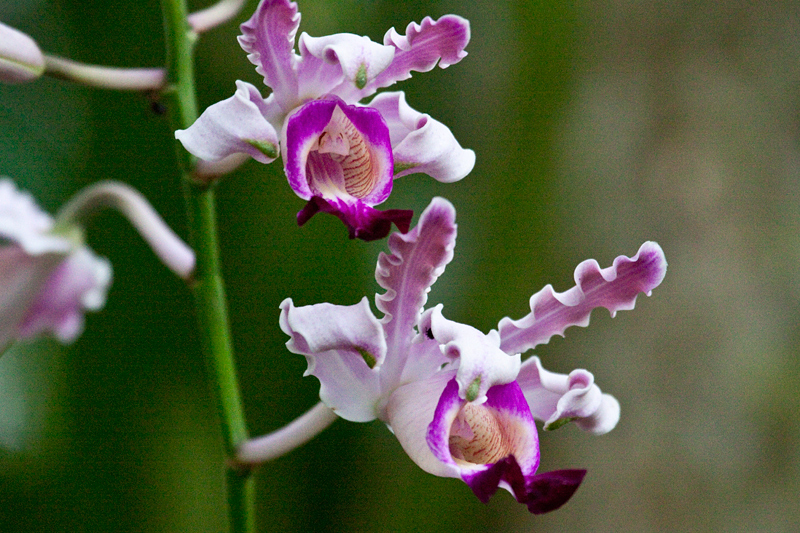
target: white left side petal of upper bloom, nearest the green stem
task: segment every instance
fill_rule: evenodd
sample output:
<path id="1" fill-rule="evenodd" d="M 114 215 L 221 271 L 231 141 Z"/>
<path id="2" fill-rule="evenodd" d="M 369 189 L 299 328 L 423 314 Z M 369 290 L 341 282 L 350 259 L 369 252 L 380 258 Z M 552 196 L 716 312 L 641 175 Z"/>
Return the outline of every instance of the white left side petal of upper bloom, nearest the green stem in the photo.
<path id="1" fill-rule="evenodd" d="M 233 96 L 203 111 L 188 129 L 176 131 L 175 138 L 206 161 L 245 153 L 271 163 L 279 154 L 278 134 L 264 116 L 265 105 L 255 87 L 237 81 Z"/>

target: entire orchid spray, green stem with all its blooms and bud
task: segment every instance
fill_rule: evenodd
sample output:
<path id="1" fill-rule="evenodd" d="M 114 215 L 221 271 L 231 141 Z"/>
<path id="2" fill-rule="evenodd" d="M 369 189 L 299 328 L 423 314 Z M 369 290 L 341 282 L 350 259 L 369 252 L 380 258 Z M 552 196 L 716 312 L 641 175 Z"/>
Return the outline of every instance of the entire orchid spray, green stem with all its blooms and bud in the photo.
<path id="1" fill-rule="evenodd" d="M 588 325 L 594 308 L 605 307 L 612 316 L 633 309 L 637 295 L 649 295 L 664 277 L 662 250 L 647 242 L 607 268 L 585 261 L 575 270 L 573 288 L 559 293 L 546 286 L 530 297 L 528 315 L 502 318 L 488 333 L 448 320 L 441 304 L 426 309 L 431 286 L 453 258 L 456 210 L 434 198 L 411 228 L 411 211 L 375 206 L 389 196 L 395 179 L 408 174 L 441 182 L 464 178 L 475 154 L 444 124 L 406 103 L 402 92 L 378 91 L 413 71 L 463 59 L 468 22 L 454 15 L 426 17 L 403 34 L 390 29 L 383 43 L 347 33 L 296 39 L 297 5 L 262 0 L 241 25 L 239 43 L 270 93 L 264 97 L 237 81 L 233 96 L 198 117 L 192 43 L 236 16 L 242 3 L 224 0 L 189 14 L 181 0 L 163 0 L 164 68 L 115 69 L 48 56 L 30 37 L 0 24 L 4 82 L 52 75 L 110 89 L 169 88 L 164 98 L 182 144 L 178 160 L 194 224 L 190 248 L 137 192 L 111 182 L 87 188 L 51 218 L 10 180 L 0 180 L 0 346 L 44 333 L 70 342 L 80 334 L 84 311 L 102 307 L 111 282 L 110 263 L 86 247 L 83 231 L 98 208 L 116 208 L 195 294 L 229 455 L 233 531 L 255 527 L 253 468 L 300 446 L 337 417 L 383 421 L 422 469 L 463 480 L 483 502 L 504 488 L 532 513 L 560 507 L 586 471 L 537 472 L 535 421 L 545 430 L 574 422 L 603 434 L 615 427 L 620 406 L 590 372 L 552 373 L 538 357 L 523 361 L 522 354 L 569 326 Z M 300 226 L 323 212 L 338 217 L 350 238 L 382 239 L 392 225 L 399 230 L 389 236 L 389 252 L 377 259 L 375 277 L 385 292 L 374 304 L 381 316 L 366 297 L 351 305 L 281 304 L 286 346 L 306 357 L 306 375 L 319 380 L 321 403 L 258 438 L 249 437 L 242 414 L 213 196 L 216 182 L 247 157 L 282 160 L 289 186 L 305 201 L 297 214 Z"/>

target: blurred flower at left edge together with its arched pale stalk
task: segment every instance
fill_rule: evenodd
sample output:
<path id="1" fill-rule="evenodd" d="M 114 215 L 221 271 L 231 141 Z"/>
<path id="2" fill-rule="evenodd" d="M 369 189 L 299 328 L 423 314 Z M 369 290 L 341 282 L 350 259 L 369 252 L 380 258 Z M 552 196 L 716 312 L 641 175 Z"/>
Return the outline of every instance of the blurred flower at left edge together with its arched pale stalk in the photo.
<path id="1" fill-rule="evenodd" d="M 106 301 L 111 264 L 84 242 L 78 219 L 111 205 L 125 214 L 173 271 L 190 277 L 194 253 L 133 189 L 100 183 L 73 198 L 58 219 L 0 179 L 0 353 L 14 340 L 52 334 L 74 341 L 84 312 Z"/>

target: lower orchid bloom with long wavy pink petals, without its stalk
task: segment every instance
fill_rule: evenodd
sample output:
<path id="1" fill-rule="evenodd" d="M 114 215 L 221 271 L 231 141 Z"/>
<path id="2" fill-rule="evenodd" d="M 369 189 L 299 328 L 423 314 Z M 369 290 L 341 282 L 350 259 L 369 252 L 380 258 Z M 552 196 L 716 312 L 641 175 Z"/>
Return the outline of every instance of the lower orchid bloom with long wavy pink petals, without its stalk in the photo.
<path id="1" fill-rule="evenodd" d="M 534 419 L 545 429 L 575 422 L 593 434 L 614 428 L 619 403 L 603 394 L 586 370 L 544 370 L 522 352 L 586 326 L 596 307 L 612 316 L 650 294 L 666 271 L 661 248 L 647 242 L 631 257 L 601 269 L 581 263 L 576 286 L 547 286 L 520 320 L 504 318 L 484 334 L 450 321 L 442 306 L 423 310 L 427 293 L 453 257 L 455 210 L 435 198 L 406 235 L 389 238 L 391 254 L 378 259 L 378 319 L 364 298 L 352 306 L 281 304 L 287 347 L 308 360 L 306 375 L 320 381 L 320 398 L 347 420 L 380 419 L 424 470 L 464 480 L 481 501 L 498 487 L 533 513 L 558 508 L 575 492 L 584 470 L 537 474 Z"/>

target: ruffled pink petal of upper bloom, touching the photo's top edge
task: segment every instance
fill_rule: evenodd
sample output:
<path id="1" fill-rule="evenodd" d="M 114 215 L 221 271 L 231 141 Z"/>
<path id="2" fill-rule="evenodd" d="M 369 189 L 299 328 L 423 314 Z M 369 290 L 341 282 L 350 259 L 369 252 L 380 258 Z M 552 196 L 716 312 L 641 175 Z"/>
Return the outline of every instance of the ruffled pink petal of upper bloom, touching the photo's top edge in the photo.
<path id="1" fill-rule="evenodd" d="M 261 0 L 250 20 L 240 26 L 239 44 L 284 113 L 298 104 L 294 38 L 299 26 L 297 4 L 287 0 Z"/>

